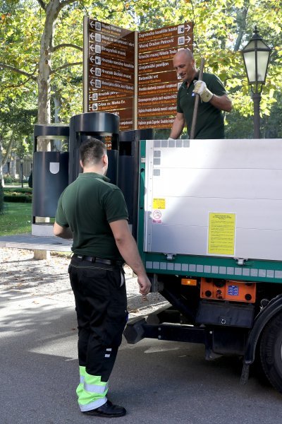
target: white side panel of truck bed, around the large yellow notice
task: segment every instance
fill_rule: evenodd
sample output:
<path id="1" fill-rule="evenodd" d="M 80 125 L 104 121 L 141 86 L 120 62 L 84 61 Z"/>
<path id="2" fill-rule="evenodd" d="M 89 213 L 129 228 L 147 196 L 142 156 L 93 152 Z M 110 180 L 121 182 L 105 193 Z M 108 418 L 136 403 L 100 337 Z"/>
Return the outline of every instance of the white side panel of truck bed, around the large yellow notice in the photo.
<path id="1" fill-rule="evenodd" d="M 210 255 L 226 213 L 234 254 L 216 256 L 282 260 L 282 139 L 147 141 L 145 185 L 146 252 Z"/>

